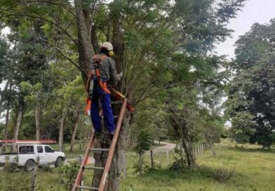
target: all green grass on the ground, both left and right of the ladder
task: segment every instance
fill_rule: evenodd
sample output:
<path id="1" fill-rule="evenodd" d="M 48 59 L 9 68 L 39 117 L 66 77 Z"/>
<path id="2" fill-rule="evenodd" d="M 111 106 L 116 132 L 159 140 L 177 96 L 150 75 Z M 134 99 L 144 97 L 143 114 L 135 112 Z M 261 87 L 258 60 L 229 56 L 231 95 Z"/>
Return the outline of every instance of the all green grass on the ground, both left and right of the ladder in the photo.
<path id="1" fill-rule="evenodd" d="M 260 150 L 257 145 L 236 145 L 222 142 L 215 146 L 217 156 L 212 157 L 210 151 L 197 156 L 199 167 L 173 171 L 168 169 L 166 153 L 154 155 L 155 163 L 161 169 L 145 173 L 140 176 L 133 174 L 133 164 L 137 156 L 133 152 L 127 153 L 127 178 L 121 178 L 121 191 L 271 191 L 275 190 L 275 152 L 274 150 Z M 75 154 L 76 155 L 76 154 Z M 145 154 L 145 161 L 149 165 L 149 154 Z M 169 154 L 169 162 L 173 162 L 173 154 Z M 234 175 L 224 183 L 215 180 L 217 169 L 232 169 Z M 86 179 L 92 174 L 86 175 Z M 65 190 L 58 183 L 58 169 L 51 171 L 40 170 L 37 176 L 38 191 Z M 20 183 L 21 182 L 21 183 Z M 20 184 L 19 184 L 20 183 Z M 8 185 L 10 190 L 29 190 L 30 174 L 16 172 L 7 174 L 0 172 L 1 188 Z M 26 185 L 26 184 L 25 184 Z M 7 186 L 6 186 L 7 187 Z M 4 189 L 0 189 L 4 190 Z M 8 190 L 4 190 L 8 191 Z"/>

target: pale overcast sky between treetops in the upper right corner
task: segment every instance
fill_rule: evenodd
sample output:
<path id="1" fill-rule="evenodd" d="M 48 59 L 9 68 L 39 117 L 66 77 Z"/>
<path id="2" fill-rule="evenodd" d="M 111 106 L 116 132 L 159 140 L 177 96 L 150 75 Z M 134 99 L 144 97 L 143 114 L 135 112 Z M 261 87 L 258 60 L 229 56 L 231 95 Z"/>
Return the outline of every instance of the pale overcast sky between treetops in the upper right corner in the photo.
<path id="1" fill-rule="evenodd" d="M 275 18 L 275 0 L 246 1 L 243 11 L 239 12 L 228 25 L 229 29 L 235 31 L 232 38 L 227 38 L 227 41 L 217 45 L 215 51 L 218 55 L 228 55 L 227 58 L 234 58 L 234 44 L 239 36 L 248 32 L 253 23 L 268 23 L 271 18 Z"/>

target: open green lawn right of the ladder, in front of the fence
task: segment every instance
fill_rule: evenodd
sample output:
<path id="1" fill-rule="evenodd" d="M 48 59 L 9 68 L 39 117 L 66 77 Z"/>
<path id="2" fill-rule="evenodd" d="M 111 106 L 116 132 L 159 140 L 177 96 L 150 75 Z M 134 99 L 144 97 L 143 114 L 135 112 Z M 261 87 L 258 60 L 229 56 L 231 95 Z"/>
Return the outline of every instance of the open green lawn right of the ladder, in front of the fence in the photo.
<path id="1" fill-rule="evenodd" d="M 271 191 L 275 190 L 275 152 L 264 152 L 257 145 L 220 143 L 217 156 L 210 151 L 197 157 L 199 168 L 171 171 L 166 163 L 162 169 L 143 176 L 130 174 L 123 181 L 123 191 L 189 190 L 189 191 Z M 163 161 L 163 160 L 162 160 Z M 165 158 L 164 158 L 164 161 Z M 217 169 L 235 169 L 234 175 L 224 183 L 214 176 Z"/>

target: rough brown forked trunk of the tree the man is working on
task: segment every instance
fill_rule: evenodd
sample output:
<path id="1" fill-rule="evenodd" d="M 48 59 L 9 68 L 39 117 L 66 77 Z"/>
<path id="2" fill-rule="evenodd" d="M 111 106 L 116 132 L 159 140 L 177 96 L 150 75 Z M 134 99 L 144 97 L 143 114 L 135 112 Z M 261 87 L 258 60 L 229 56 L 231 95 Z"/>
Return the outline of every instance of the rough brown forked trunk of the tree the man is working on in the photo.
<path id="1" fill-rule="evenodd" d="M 89 62 L 91 59 L 93 48 L 98 49 L 98 39 L 96 37 L 96 27 L 91 26 L 90 23 L 93 21 L 93 14 L 95 9 L 93 9 L 92 15 L 85 11 L 82 7 L 83 1 L 74 0 L 75 10 L 76 10 L 76 22 L 78 28 L 78 49 L 79 49 L 79 63 L 81 66 L 82 77 L 84 84 L 87 79 L 87 74 L 89 72 Z M 119 6 L 120 1 L 114 0 L 110 5 L 109 13 L 109 26 L 107 40 L 112 39 L 112 44 L 114 46 L 116 61 L 116 69 L 121 71 L 123 68 L 123 56 L 124 56 L 124 46 L 123 46 L 123 33 L 121 32 L 121 7 Z M 95 7 L 94 7 L 95 8 Z M 109 37 L 112 34 L 112 38 Z M 111 35 L 110 35 L 111 36 Z M 93 47 L 93 48 L 92 48 Z M 95 50 L 97 52 L 98 50 Z M 123 87 L 119 84 L 118 89 L 123 91 Z M 125 93 L 125 92 L 124 92 Z M 127 93 L 126 93 L 127 95 Z M 118 112 L 118 109 L 114 109 L 114 112 Z M 130 124 L 130 114 L 126 112 L 123 119 L 123 124 L 121 127 L 121 132 L 119 134 L 119 139 L 116 143 L 116 149 L 114 151 L 114 157 L 112 159 L 112 165 L 107 178 L 107 183 L 105 184 L 105 191 L 116 191 L 119 190 L 119 176 L 121 176 L 121 170 L 123 168 L 123 152 L 124 143 L 126 143 L 126 131 Z M 100 140 L 96 140 L 95 147 L 109 148 L 111 141 L 108 136 L 104 136 Z M 105 166 L 107 160 L 107 153 L 95 153 L 95 166 Z M 93 187 L 98 187 L 100 179 L 102 177 L 102 171 L 95 171 L 93 176 Z"/>

